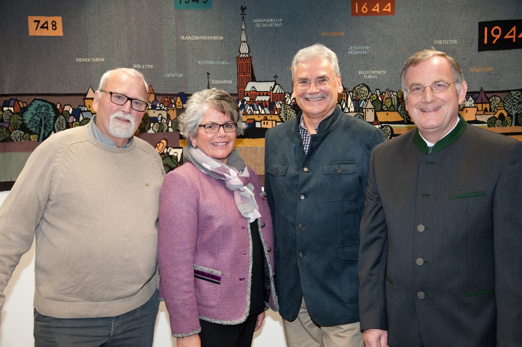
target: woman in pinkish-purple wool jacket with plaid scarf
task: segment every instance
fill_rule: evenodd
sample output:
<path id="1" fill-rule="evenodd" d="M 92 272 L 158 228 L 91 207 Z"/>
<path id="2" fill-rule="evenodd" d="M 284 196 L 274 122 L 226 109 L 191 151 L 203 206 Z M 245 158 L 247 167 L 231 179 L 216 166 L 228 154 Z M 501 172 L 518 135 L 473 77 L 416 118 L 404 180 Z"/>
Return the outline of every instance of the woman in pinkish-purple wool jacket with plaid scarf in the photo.
<path id="1" fill-rule="evenodd" d="M 205 89 L 187 101 L 185 164 L 160 196 L 160 295 L 178 347 L 252 344 L 278 309 L 270 210 L 257 174 L 233 152 L 245 128 L 238 104 Z"/>

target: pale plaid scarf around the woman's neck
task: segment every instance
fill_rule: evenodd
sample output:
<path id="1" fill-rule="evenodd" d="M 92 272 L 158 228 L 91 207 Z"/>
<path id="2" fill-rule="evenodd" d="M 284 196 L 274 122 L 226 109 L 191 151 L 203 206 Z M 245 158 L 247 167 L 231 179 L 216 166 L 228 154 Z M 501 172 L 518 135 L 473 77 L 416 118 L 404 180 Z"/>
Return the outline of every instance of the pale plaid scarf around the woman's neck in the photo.
<path id="1" fill-rule="evenodd" d="M 254 186 L 252 183 L 248 183 L 250 174 L 243 159 L 238 154 L 230 153 L 227 158 L 228 165 L 225 165 L 217 159 L 210 158 L 199 148 L 187 145 L 183 149 L 183 157 L 193 163 L 201 172 L 225 181 L 227 188 L 234 192 L 235 205 L 238 207 L 241 216 L 250 219 L 250 221 L 261 217 L 254 198 Z"/>

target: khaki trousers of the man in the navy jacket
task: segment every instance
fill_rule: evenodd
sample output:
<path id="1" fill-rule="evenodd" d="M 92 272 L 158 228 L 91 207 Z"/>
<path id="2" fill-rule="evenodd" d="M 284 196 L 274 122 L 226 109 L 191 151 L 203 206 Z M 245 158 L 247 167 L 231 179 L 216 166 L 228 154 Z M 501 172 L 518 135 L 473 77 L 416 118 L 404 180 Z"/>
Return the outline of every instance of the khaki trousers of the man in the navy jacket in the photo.
<path id="1" fill-rule="evenodd" d="M 359 322 L 332 327 L 317 325 L 301 303 L 294 321 L 283 319 L 284 336 L 288 347 L 363 347 Z"/>

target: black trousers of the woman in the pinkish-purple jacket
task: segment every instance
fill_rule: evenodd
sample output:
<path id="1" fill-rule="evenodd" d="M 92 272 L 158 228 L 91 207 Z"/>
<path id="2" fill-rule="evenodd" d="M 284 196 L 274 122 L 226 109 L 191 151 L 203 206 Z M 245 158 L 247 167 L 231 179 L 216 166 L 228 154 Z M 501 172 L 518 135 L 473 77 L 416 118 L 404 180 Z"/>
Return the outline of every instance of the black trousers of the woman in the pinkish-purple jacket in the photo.
<path id="1" fill-rule="evenodd" d="M 238 325 L 223 325 L 199 319 L 201 347 L 250 347 L 257 315 L 250 315 Z"/>

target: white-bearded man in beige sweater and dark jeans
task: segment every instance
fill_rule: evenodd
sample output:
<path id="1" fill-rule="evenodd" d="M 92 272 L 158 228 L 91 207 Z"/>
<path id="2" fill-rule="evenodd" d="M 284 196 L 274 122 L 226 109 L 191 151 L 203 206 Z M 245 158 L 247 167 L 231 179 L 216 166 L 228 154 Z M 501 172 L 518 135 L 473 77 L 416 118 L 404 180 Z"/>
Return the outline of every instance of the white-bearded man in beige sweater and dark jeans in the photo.
<path id="1" fill-rule="evenodd" d="M 36 237 L 35 346 L 152 345 L 165 172 L 133 136 L 147 92 L 138 71 L 107 71 L 97 115 L 38 146 L 0 208 L 0 313 Z"/>

